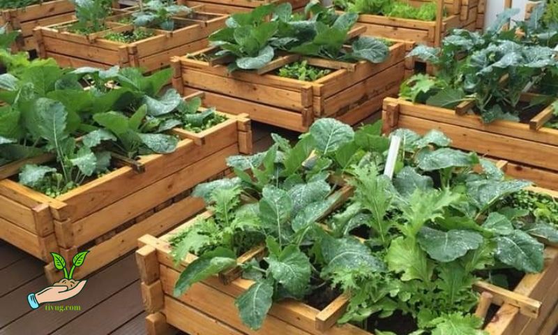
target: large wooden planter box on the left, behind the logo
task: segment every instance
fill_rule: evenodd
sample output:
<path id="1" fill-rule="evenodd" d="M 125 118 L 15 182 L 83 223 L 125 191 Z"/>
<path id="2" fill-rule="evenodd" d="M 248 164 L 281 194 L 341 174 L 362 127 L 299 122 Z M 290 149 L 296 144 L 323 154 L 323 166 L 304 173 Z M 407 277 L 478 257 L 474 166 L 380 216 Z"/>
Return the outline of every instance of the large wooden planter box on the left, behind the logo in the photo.
<path id="1" fill-rule="evenodd" d="M 201 133 L 174 129 L 181 140 L 172 154 L 141 156 L 135 164 L 113 158 L 120 168 L 57 198 L 1 179 L 0 239 L 51 262 L 45 271 L 52 282 L 61 274 L 50 252 L 69 261 L 78 251 L 90 251 L 75 278 L 107 265 L 132 251 L 143 234 L 161 234 L 202 210 L 203 202 L 190 197 L 190 190 L 223 177 L 228 156 L 252 150 L 250 121 L 245 115 L 225 116 L 226 121 Z M 4 168 L 13 174 L 19 170 Z"/>

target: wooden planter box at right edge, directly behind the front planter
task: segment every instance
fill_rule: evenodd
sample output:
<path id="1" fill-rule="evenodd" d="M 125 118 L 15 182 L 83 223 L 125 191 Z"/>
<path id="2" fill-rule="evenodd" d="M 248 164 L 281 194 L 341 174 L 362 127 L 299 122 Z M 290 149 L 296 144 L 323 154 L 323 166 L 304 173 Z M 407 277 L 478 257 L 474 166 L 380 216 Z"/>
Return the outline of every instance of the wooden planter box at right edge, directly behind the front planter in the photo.
<path id="1" fill-rule="evenodd" d="M 525 95 L 525 99 L 531 97 Z M 504 120 L 483 124 L 477 115 L 463 114 L 466 111 L 460 106 L 448 110 L 386 98 L 384 131 L 409 128 L 423 134 L 438 129 L 453 140 L 453 147 L 509 161 L 506 173 L 512 177 L 558 190 L 558 129 L 543 127 L 552 116 L 552 107 L 529 124 Z"/>

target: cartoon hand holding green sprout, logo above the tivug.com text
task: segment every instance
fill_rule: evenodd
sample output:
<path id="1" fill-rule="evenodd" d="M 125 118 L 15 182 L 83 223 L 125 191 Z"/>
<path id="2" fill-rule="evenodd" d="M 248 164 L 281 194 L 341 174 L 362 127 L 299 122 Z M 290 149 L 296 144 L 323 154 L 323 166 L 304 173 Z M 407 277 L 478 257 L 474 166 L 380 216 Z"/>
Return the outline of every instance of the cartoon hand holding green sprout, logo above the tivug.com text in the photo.
<path id="1" fill-rule="evenodd" d="M 72 279 L 72 276 L 75 268 L 82 266 L 87 253 L 89 253 L 89 251 L 83 251 L 82 253 L 77 253 L 77 255 L 74 256 L 72 260 L 73 265 L 69 273 L 66 269 L 66 260 L 64 260 L 64 258 L 57 253 L 51 253 L 52 258 L 54 259 L 54 267 L 64 271 L 64 278 L 40 292 L 28 295 L 27 301 L 29 302 L 29 306 L 35 309 L 38 308 L 40 304 L 45 302 L 63 301 L 80 294 L 87 281 L 75 281 Z"/>

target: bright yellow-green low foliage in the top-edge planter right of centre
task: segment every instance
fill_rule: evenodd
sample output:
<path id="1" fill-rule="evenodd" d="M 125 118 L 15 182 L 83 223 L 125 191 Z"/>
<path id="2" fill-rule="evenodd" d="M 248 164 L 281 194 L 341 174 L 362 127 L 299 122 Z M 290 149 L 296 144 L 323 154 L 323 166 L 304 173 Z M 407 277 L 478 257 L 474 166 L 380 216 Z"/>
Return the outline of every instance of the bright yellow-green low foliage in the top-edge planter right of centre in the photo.
<path id="1" fill-rule="evenodd" d="M 384 15 L 421 21 L 436 20 L 436 3 L 423 3 L 412 6 L 405 1 L 390 0 L 334 0 L 333 4 L 341 10 L 358 14 Z"/>

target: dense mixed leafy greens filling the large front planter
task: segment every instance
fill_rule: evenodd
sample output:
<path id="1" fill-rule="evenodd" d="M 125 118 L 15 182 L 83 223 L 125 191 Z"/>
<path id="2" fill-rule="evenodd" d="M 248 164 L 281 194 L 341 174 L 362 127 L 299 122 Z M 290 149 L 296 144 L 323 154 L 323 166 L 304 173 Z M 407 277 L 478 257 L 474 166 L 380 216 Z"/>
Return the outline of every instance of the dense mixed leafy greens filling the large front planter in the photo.
<path id="1" fill-rule="evenodd" d="M 171 239 L 176 262 L 198 256 L 179 276 L 175 295 L 264 246 L 265 258 L 241 265 L 254 283 L 236 299 L 252 329 L 262 326 L 273 301 L 310 302 L 312 292 L 329 287 L 351 297 L 339 322 L 372 330 L 375 320 L 397 312 L 413 318 L 414 334 L 454 328 L 483 334 L 483 320 L 472 315 L 473 284 L 492 271 L 543 269 L 536 238 L 558 241 L 558 230 L 544 220 L 554 202 L 545 200 L 543 210 L 524 200 L 511 207 L 525 198 L 529 182 L 506 179 L 490 161 L 450 149 L 439 131 L 423 137 L 396 131 L 404 147 L 389 179 L 382 173 L 389 138 L 381 128 L 353 131 L 319 119 L 294 145 L 273 135 L 268 151 L 229 158 L 238 177 L 194 192 L 213 216 Z M 333 176 L 354 191 L 341 207 Z"/>

